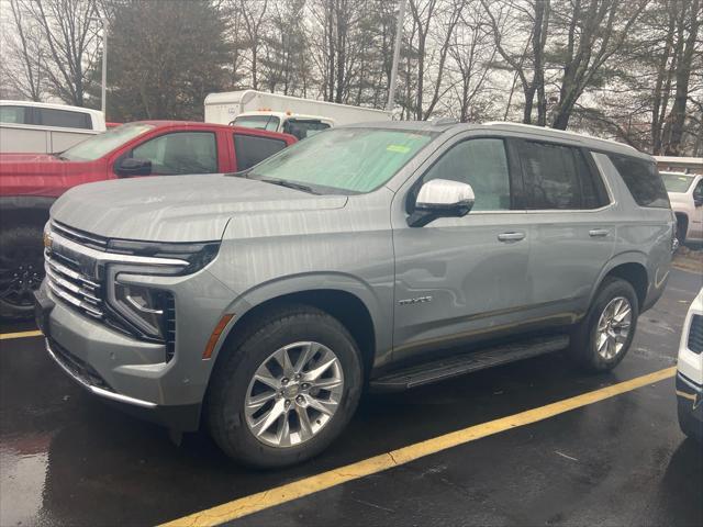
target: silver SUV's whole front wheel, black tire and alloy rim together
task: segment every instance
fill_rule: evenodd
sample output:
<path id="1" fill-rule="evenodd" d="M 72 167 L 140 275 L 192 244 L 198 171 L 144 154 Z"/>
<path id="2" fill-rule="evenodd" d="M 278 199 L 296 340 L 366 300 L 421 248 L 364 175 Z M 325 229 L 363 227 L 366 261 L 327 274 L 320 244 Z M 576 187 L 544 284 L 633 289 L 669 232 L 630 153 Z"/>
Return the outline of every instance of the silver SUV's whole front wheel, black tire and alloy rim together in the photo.
<path id="1" fill-rule="evenodd" d="M 360 354 L 349 332 L 323 311 L 293 305 L 268 312 L 257 323 L 244 329 L 243 335 L 235 340 L 221 351 L 225 355 L 217 360 L 205 403 L 208 425 L 215 442 L 232 459 L 255 468 L 286 467 L 322 452 L 348 424 L 364 384 Z M 291 346 L 295 343 L 301 344 L 300 349 Z M 308 347 L 302 343 L 315 345 Z M 288 354 L 291 366 L 295 367 L 301 366 L 299 362 L 308 357 L 303 352 L 310 350 L 312 359 L 300 370 L 305 377 L 301 380 L 291 377 L 283 384 L 288 378 L 287 371 L 278 369 L 281 365 L 281 349 L 287 350 L 283 352 Z M 322 362 L 332 360 L 327 351 L 332 351 L 337 361 L 324 372 L 326 378 L 315 382 L 332 385 L 337 382 L 335 379 L 342 378 L 342 385 L 331 391 L 315 391 L 314 388 L 305 391 L 306 375 L 313 375 L 321 369 Z M 267 365 L 267 370 L 261 370 L 264 365 Z M 261 371 L 268 371 L 271 377 L 277 378 L 276 389 L 254 379 L 255 373 Z M 288 373 L 294 371 L 289 369 Z M 267 380 L 270 382 L 271 379 Z M 269 397 L 271 393 L 275 396 L 256 413 L 245 408 L 247 401 L 254 401 L 247 397 Z M 317 400 L 313 396 L 315 394 Z M 312 405 L 313 400 L 319 406 L 320 401 L 326 401 L 327 397 L 330 401 L 336 397 L 337 401 L 332 416 L 317 412 Z M 325 401 L 323 406 L 333 406 Z M 264 417 L 278 415 L 281 404 L 290 406 L 284 406 L 284 413 L 268 428 L 256 428 L 259 435 L 255 435 L 256 425 L 265 421 Z M 304 407 L 301 408 L 301 405 Z M 303 419 L 303 413 L 308 415 L 308 419 Z M 303 421 L 306 421 L 305 426 Z M 286 426 L 289 430 L 288 439 L 283 431 Z M 314 433 L 311 431 L 312 427 L 316 427 Z M 279 436 L 283 439 L 277 445 Z"/>

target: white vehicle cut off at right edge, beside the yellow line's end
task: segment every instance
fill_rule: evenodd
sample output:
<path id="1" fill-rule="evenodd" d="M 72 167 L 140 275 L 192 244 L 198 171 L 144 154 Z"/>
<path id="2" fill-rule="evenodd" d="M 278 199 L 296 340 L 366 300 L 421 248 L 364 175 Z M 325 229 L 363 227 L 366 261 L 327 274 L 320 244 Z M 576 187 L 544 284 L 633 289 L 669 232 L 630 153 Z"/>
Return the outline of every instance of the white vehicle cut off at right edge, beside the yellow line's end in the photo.
<path id="1" fill-rule="evenodd" d="M 685 317 L 677 371 L 679 425 L 703 441 L 703 289 Z"/>

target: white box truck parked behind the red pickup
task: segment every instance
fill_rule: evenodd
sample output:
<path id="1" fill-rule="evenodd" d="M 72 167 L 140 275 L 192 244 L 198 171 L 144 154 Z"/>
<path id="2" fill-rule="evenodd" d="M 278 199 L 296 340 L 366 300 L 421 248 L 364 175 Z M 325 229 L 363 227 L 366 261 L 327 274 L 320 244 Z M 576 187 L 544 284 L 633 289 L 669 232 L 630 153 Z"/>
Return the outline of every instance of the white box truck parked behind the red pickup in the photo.
<path id="1" fill-rule="evenodd" d="M 391 113 L 383 110 L 256 90 L 226 91 L 205 97 L 208 123 L 286 132 L 301 139 L 331 126 L 391 119 Z"/>

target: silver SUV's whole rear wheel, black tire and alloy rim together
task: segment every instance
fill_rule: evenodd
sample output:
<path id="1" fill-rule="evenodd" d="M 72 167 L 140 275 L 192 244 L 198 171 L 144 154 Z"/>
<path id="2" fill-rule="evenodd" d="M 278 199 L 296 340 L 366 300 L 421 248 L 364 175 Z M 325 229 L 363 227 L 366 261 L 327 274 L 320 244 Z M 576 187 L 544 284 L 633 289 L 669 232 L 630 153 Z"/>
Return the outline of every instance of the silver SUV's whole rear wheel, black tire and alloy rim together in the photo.
<path id="1" fill-rule="evenodd" d="M 612 319 L 612 327 L 606 323 L 609 313 L 612 312 L 604 313 L 606 310 L 618 310 L 621 307 L 624 312 L 625 305 L 620 303 L 618 299 L 623 299 L 629 304 L 629 325 L 627 326 L 626 336 L 624 335 L 625 323 L 618 323 L 615 319 L 620 317 L 621 312 L 615 311 L 618 316 Z M 595 294 L 585 318 L 571 335 L 571 354 L 582 367 L 590 371 L 612 370 L 623 360 L 632 345 L 637 329 L 639 303 L 637 293 L 632 284 L 621 278 L 607 277 Z M 600 330 L 603 326 L 599 328 L 599 324 L 604 324 L 605 333 L 609 336 L 614 334 L 617 338 L 607 338 L 604 343 Z M 599 345 L 603 345 L 600 347 L 600 351 Z M 621 346 L 618 347 L 618 345 Z"/>

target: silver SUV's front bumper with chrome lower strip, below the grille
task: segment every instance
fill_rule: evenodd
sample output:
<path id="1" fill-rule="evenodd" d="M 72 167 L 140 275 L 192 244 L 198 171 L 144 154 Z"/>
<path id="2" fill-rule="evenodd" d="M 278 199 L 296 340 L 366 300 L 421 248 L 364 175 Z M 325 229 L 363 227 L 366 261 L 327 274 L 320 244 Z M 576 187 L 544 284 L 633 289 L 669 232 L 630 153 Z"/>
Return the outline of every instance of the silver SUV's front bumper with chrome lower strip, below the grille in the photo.
<path id="1" fill-rule="evenodd" d="M 178 298 L 178 284 L 174 291 Z M 167 361 L 164 344 L 140 340 L 87 317 L 54 298 L 46 282 L 35 299 L 47 352 L 78 384 L 138 417 L 182 431 L 198 429 L 212 370 L 212 361 L 202 360 L 211 328 L 187 324 L 193 319 L 192 302 L 182 303 L 183 326 L 177 328 L 181 337 Z"/>

